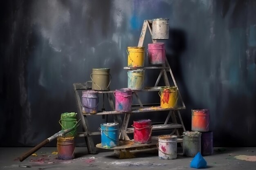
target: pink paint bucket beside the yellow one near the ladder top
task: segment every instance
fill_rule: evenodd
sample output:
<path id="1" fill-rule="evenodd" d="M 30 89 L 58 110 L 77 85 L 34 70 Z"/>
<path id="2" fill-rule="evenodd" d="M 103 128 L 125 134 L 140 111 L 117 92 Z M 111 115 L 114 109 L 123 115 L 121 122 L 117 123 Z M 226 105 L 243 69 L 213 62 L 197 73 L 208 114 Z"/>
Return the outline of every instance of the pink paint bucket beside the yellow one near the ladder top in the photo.
<path id="1" fill-rule="evenodd" d="M 148 44 L 148 62 L 150 64 L 165 63 L 165 44 L 163 42 Z"/>

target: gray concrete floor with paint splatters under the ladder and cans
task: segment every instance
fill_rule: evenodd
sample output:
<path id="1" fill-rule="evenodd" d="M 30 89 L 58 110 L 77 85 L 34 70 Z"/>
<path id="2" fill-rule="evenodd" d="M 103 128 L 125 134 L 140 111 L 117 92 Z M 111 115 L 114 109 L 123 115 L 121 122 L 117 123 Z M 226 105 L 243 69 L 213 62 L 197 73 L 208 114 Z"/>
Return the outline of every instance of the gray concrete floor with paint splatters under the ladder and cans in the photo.
<path id="1" fill-rule="evenodd" d="M 45 147 L 36 152 L 37 157 L 30 156 L 20 162 L 18 157 L 29 149 L 0 148 L 0 170 L 194 169 L 189 166 L 193 158 L 183 157 L 180 152 L 182 148 L 178 148 L 177 159 L 162 160 L 158 158 L 157 152 L 139 152 L 135 154 L 136 158 L 118 159 L 113 155 L 112 150 L 99 150 L 99 154 L 90 155 L 86 148 L 76 147 L 75 159 L 63 161 L 58 160 L 58 156 L 53 154 L 56 148 Z M 256 170 L 256 148 L 214 148 L 214 150 L 213 155 L 204 156 L 207 168 L 210 170 Z M 30 168 L 22 168 L 19 165 L 30 166 Z"/>

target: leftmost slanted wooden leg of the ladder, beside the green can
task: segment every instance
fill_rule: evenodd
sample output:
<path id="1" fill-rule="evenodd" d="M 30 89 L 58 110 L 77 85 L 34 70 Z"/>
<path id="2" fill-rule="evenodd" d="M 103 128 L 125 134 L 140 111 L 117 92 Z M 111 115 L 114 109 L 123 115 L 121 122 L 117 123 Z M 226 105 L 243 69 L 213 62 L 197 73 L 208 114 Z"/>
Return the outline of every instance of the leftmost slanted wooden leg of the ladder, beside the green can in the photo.
<path id="1" fill-rule="evenodd" d="M 79 117 L 81 119 L 82 129 L 83 129 L 83 132 L 86 133 L 85 142 L 86 142 L 88 153 L 97 154 L 96 148 L 94 146 L 94 142 L 92 140 L 92 137 L 90 136 L 87 117 L 84 116 L 83 113 L 82 113 L 82 105 L 81 105 L 81 101 L 80 101 L 78 91 L 76 90 L 76 85 L 73 84 L 73 87 L 74 87 L 74 93 L 75 93 L 75 96 L 76 96 L 76 105 L 78 107 Z"/>

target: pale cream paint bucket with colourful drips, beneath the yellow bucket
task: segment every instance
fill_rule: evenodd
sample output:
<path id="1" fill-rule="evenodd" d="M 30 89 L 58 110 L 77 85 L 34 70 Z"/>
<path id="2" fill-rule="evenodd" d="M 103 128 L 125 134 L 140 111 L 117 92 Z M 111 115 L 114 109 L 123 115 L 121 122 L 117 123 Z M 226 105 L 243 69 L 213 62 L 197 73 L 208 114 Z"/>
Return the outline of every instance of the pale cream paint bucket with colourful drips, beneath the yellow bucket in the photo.
<path id="1" fill-rule="evenodd" d="M 145 81 L 145 70 L 128 70 L 128 88 L 132 90 L 141 90 Z"/>

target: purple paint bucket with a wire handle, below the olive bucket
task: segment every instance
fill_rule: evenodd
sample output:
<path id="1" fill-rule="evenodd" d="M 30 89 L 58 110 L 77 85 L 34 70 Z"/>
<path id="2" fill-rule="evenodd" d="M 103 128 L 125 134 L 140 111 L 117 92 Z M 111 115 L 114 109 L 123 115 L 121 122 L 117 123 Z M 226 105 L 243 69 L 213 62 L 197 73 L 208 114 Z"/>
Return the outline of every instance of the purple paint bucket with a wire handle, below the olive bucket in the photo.
<path id="1" fill-rule="evenodd" d="M 97 113 L 98 112 L 98 104 L 99 104 L 99 96 L 96 91 L 82 91 L 82 106 L 84 107 L 85 113 Z"/>

